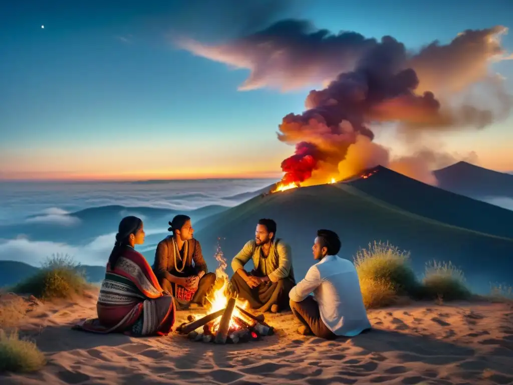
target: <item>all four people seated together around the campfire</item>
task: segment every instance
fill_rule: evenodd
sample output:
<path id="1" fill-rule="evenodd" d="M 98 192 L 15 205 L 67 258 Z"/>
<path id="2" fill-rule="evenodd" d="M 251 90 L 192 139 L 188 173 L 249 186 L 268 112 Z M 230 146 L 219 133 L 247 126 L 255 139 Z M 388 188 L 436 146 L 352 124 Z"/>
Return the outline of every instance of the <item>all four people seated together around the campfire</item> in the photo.
<path id="1" fill-rule="evenodd" d="M 172 234 L 159 242 L 150 266 L 134 249 L 144 243 L 142 220 L 123 218 L 101 285 L 97 318 L 81 321 L 76 329 L 167 335 L 177 310 L 205 305 L 216 276 L 208 272 L 191 219 L 177 215 L 169 225 Z M 233 292 L 259 312 L 290 309 L 301 323 L 298 332 L 304 335 L 334 339 L 370 329 L 356 269 L 337 255 L 339 236 L 318 230 L 312 246 L 317 263 L 296 283 L 291 247 L 276 233 L 272 219 L 258 221 L 254 239 L 231 262 Z M 244 266 L 250 260 L 253 269 L 248 272 Z"/>

